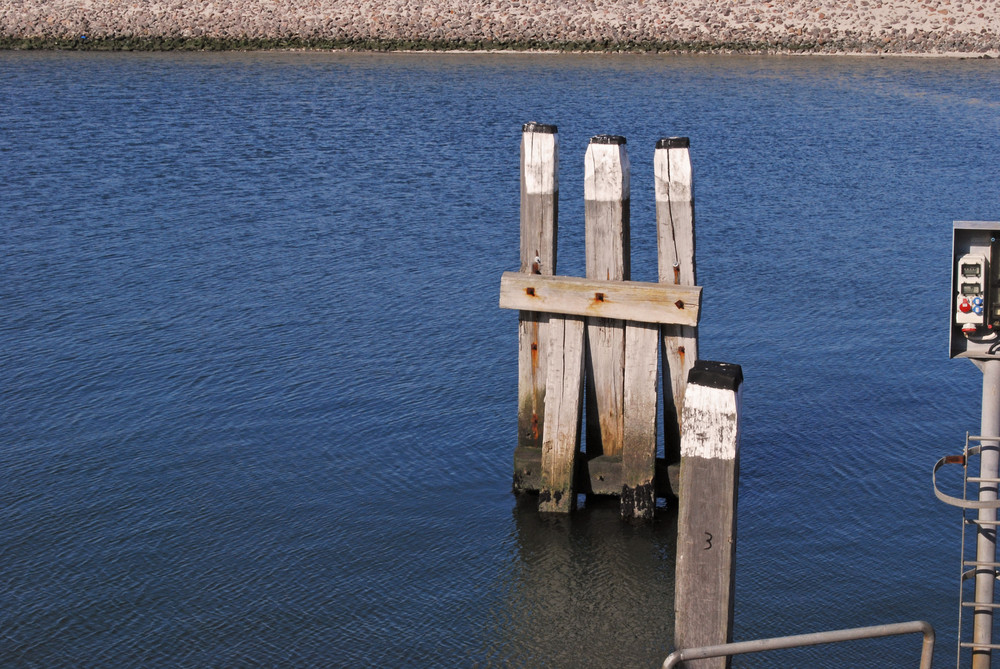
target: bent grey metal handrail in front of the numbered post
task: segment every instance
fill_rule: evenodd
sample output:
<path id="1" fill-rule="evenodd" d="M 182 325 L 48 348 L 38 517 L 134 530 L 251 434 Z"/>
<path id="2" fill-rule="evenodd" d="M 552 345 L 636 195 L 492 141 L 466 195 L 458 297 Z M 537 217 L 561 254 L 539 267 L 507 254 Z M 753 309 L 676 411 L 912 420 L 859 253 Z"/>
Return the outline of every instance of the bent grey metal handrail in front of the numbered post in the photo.
<path id="1" fill-rule="evenodd" d="M 924 620 L 911 620 L 905 623 L 889 625 L 874 625 L 872 627 L 854 627 L 846 630 L 831 630 L 829 632 L 814 632 L 813 634 L 796 634 L 794 636 L 774 637 L 771 639 L 755 639 L 738 643 L 724 643 L 718 646 L 702 648 L 682 648 L 675 650 L 663 661 L 663 669 L 676 667 L 686 660 L 703 660 L 709 657 L 727 657 L 759 653 L 765 650 L 780 648 L 797 648 L 799 646 L 816 646 L 823 643 L 839 643 L 856 639 L 875 639 L 897 634 L 912 634 L 920 632 L 924 635 L 923 648 L 920 651 L 920 669 L 931 669 L 934 657 L 934 627 Z"/>

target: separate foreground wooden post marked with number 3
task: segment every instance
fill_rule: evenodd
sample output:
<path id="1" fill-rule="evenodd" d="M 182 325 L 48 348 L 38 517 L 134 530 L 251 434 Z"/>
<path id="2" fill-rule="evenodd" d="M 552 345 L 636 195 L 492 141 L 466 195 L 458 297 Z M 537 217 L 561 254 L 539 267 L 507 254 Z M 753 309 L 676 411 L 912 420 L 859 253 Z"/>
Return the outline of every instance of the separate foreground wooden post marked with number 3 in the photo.
<path id="1" fill-rule="evenodd" d="M 688 375 L 674 585 L 677 648 L 732 640 L 742 390 L 739 365 L 699 360 Z M 689 669 L 728 665 L 726 658 L 685 662 Z"/>

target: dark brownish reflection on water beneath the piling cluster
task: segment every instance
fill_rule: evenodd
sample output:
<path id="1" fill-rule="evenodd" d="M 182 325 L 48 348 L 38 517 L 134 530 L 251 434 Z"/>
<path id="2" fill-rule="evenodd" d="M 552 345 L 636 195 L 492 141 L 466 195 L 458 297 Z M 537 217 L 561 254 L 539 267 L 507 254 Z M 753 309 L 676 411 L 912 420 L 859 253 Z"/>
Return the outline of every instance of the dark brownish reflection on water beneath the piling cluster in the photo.
<path id="1" fill-rule="evenodd" d="M 490 661 L 512 666 L 658 666 L 673 643 L 676 508 L 629 525 L 617 499 L 570 516 L 513 510 L 517 558 Z"/>

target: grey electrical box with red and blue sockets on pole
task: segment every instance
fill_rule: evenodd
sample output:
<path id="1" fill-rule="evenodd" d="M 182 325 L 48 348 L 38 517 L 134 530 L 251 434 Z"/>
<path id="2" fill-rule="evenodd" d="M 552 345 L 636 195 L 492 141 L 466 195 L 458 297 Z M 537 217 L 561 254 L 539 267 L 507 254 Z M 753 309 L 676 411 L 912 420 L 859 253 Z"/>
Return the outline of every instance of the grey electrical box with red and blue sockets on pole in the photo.
<path id="1" fill-rule="evenodd" d="M 952 358 L 1000 358 L 1000 221 L 956 221 L 951 263 Z"/>

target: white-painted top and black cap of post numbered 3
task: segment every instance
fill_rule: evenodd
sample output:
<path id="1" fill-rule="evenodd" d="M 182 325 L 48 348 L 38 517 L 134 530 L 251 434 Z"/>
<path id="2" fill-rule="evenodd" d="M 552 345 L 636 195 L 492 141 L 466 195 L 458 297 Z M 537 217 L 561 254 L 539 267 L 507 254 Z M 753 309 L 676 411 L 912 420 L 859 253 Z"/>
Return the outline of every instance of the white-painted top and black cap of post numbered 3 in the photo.
<path id="1" fill-rule="evenodd" d="M 698 360 L 688 374 L 681 417 L 681 457 L 735 460 L 740 448 L 743 370 Z"/>

